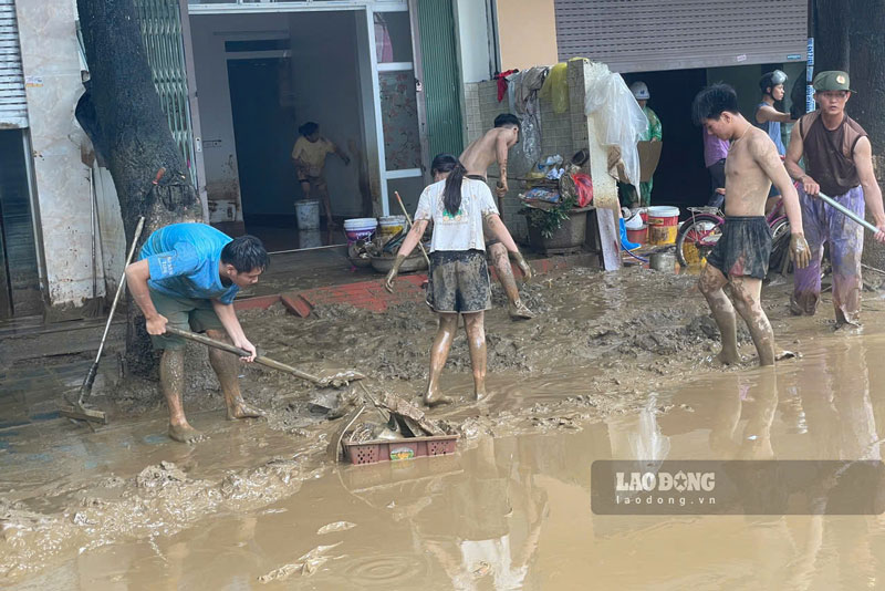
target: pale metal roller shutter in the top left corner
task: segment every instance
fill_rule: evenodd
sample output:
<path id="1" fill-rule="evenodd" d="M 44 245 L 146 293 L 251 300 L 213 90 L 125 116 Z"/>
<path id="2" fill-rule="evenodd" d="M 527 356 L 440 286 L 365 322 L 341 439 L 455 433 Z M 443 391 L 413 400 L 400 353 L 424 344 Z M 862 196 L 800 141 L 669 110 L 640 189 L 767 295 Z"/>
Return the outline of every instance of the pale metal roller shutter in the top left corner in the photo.
<path id="1" fill-rule="evenodd" d="M 0 128 L 28 127 L 14 0 L 0 0 Z"/>

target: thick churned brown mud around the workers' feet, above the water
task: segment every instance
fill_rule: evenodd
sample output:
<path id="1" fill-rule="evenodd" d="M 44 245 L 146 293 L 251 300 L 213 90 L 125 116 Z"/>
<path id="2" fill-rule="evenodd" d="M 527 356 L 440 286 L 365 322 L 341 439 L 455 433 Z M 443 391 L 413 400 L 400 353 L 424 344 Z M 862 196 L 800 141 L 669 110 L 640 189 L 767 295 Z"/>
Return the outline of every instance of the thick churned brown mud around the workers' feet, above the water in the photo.
<path id="1" fill-rule="evenodd" d="M 428 416 L 459 434 L 464 448 L 481 434 L 580 428 L 586 421 L 643 407 L 649 392 L 667 382 L 721 371 L 711 362 L 718 331 L 695 284 L 694 277 L 639 268 L 617 273 L 577 268 L 523 286 L 522 299 L 538 315 L 522 322 L 507 317 L 496 286 L 486 321 L 489 398 L 469 401 L 470 359 L 461 331 L 441 381 L 445 393 L 459 402 Z M 777 331 L 784 299 L 769 294 L 768 301 L 775 302 L 768 308 Z M 420 400 L 436 330 L 435 315 L 423 303 L 386 313 L 322 307 L 308 319 L 274 307 L 242 312 L 240 319 L 268 356 L 319 373 L 355 369 L 367 376 L 369 392 Z M 746 329 L 739 336 L 745 344 L 749 340 Z M 186 409 L 222 408 L 205 348 L 189 348 L 187 363 Z M 360 404 L 358 388 L 317 390 L 256 365 L 243 366 L 241 384 L 244 397 L 268 411 L 270 429 L 285 437 L 279 457 L 270 457 L 270 449 L 269 459 L 256 456 L 258 465 L 214 478 L 191 476 L 188 466 L 143 463 L 134 474 L 58 488 L 52 501 L 0 491 L 7 497 L 0 497 L 0 576 L 33 572 L 72 549 L 170 535 L 207 515 L 252 510 L 329 469 L 325 447 L 341 419 L 330 421 L 327 408 L 337 406 L 332 414 L 341 416 Z M 117 422 L 164 416 L 155 383 L 129 383 L 103 394 L 116 401 Z"/>

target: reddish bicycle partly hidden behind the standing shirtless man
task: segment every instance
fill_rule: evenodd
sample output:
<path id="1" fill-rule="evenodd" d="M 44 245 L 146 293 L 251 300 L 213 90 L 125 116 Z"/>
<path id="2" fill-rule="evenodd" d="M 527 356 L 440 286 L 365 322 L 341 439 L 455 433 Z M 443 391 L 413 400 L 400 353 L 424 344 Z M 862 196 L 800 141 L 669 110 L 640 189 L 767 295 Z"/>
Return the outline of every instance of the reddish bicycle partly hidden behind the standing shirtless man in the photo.
<path id="1" fill-rule="evenodd" d="M 718 207 L 689 207 L 691 218 L 683 222 L 676 232 L 676 258 L 679 265 L 701 265 L 722 237 L 725 214 Z M 780 270 L 790 247 L 790 220 L 783 210 L 783 199 L 766 216 L 771 229 L 771 256 L 769 270 Z"/>

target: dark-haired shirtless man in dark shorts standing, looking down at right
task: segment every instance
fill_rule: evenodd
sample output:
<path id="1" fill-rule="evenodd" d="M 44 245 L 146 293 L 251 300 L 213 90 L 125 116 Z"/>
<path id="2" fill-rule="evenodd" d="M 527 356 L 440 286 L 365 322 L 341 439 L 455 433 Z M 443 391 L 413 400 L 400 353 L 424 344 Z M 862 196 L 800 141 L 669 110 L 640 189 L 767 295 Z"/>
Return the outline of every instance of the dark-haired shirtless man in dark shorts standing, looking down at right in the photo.
<path id="1" fill-rule="evenodd" d="M 750 329 L 759 364 L 773 365 L 774 333 L 760 301 L 771 255 L 766 199 L 773 182 L 783 196 L 790 220 L 790 258 L 801 269 L 808 266 L 811 251 L 802 234 L 799 197 L 774 143 L 743 118 L 731 86 L 714 84 L 704 89 L 695 96 L 691 112 L 696 124 L 731 142 L 726 158 L 726 224 L 698 282 L 722 335 L 722 351 L 717 359 L 726 365 L 740 362 L 737 309 Z M 733 305 L 722 290 L 726 283 L 731 284 Z"/>

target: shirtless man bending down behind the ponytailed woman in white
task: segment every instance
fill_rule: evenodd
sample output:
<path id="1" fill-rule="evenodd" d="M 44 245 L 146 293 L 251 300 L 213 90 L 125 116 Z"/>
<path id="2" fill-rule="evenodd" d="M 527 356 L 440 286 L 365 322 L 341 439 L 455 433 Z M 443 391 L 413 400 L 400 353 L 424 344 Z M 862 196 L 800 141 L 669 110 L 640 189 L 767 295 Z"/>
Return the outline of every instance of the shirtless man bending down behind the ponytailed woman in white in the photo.
<path id="1" fill-rule="evenodd" d="M 500 183 L 494 194 L 498 197 L 498 210 L 503 214 L 501 199 L 507 195 L 507 152 L 519 141 L 519 120 L 509 113 L 494 117 L 494 128 L 486 132 L 486 135 L 467 146 L 458 158 L 465 168 L 467 177 L 476 180 L 486 180 L 486 170 L 490 165 L 498 163 L 500 170 Z M 483 228 L 486 236 L 493 236 L 488 228 Z M 507 249 L 498 240 L 492 238 L 486 242 L 486 251 L 489 253 L 494 270 L 498 272 L 498 280 L 504 288 L 507 299 L 510 302 L 508 310 L 513 320 L 524 320 L 534 318 L 534 314 L 525 308 L 519 299 L 519 288 L 517 279 L 513 277 L 513 269 L 507 258 Z M 522 258 L 522 255 L 513 255 L 513 260 L 522 271 L 525 281 L 532 278 L 532 268 Z"/>

